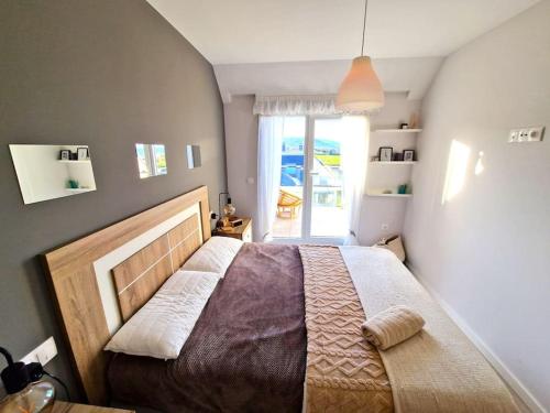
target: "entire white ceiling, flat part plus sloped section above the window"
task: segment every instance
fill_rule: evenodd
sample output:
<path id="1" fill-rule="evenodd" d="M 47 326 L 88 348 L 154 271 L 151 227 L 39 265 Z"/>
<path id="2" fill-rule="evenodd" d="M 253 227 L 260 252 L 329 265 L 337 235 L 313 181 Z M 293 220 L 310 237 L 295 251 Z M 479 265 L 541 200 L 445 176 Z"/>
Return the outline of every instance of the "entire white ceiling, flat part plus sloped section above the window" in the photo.
<path id="1" fill-rule="evenodd" d="M 361 53 L 363 0 L 147 0 L 232 95 L 336 94 Z M 370 0 L 365 54 L 385 91 L 421 99 L 444 56 L 539 0 Z"/>

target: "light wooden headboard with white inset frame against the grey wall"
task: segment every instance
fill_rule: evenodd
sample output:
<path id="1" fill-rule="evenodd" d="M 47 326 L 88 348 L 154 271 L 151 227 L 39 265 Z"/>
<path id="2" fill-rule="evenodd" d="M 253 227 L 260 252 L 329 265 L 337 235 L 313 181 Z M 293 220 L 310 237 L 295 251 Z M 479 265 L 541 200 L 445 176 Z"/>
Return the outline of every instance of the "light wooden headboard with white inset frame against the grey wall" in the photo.
<path id="1" fill-rule="evenodd" d="M 209 238 L 202 186 L 44 256 L 88 402 L 108 403 L 103 347 L 112 334 Z"/>

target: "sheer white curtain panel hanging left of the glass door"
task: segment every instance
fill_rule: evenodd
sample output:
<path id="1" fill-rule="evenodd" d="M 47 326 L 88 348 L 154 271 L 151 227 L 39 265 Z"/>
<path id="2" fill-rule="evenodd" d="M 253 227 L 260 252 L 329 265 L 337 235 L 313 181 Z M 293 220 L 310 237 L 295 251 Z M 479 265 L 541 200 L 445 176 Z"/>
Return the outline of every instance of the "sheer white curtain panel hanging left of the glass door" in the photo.
<path id="1" fill-rule="evenodd" d="M 271 238 L 277 214 L 284 117 L 261 116 L 257 142 L 257 228 L 264 241 Z"/>

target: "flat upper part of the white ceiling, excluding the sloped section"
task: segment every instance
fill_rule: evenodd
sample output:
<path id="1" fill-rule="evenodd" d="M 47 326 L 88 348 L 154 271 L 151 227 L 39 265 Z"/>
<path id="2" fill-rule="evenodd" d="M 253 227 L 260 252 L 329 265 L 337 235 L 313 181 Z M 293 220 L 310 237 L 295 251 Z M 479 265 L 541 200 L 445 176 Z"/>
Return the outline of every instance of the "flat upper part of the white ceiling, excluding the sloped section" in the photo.
<path id="1" fill-rule="evenodd" d="M 349 59 L 363 0 L 148 0 L 213 65 Z M 373 57 L 446 56 L 538 0 L 370 0 Z"/>

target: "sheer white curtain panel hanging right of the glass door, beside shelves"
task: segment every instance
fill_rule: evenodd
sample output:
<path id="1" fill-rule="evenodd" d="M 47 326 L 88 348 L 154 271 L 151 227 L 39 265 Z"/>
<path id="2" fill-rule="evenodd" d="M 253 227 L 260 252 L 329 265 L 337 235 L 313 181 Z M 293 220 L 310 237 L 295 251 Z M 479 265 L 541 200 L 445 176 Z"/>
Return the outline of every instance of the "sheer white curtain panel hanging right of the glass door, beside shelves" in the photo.
<path id="1" fill-rule="evenodd" d="M 343 198 L 350 230 L 350 235 L 344 241 L 346 244 L 358 243 L 359 239 L 369 162 L 369 132 L 366 116 L 344 116 L 342 118 Z"/>

